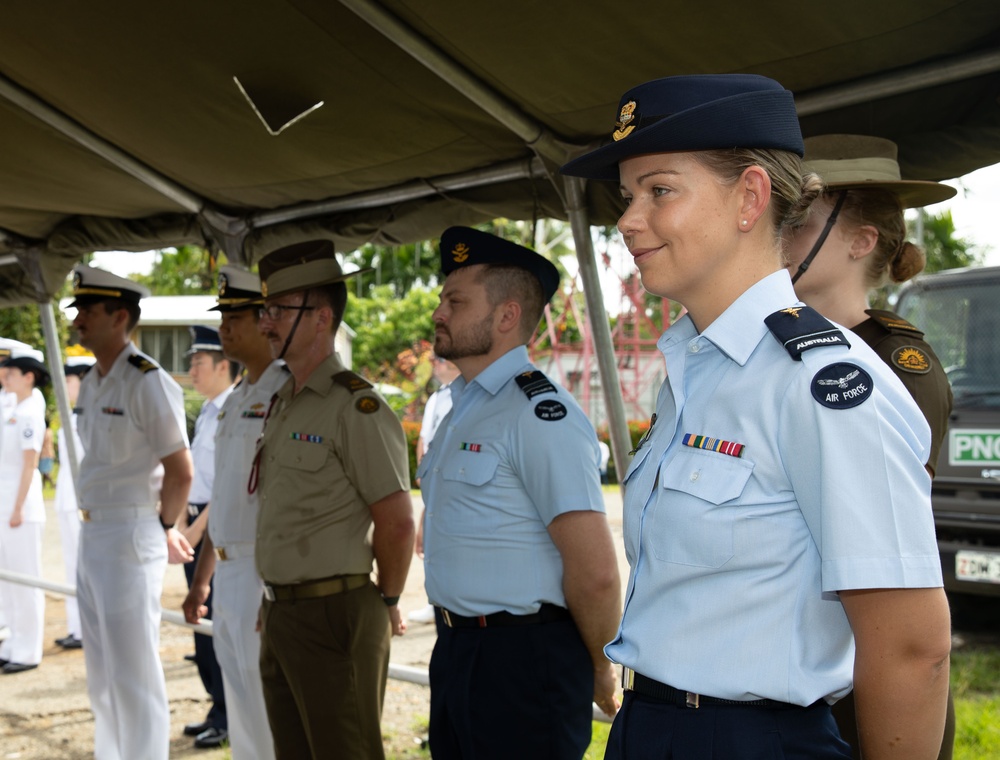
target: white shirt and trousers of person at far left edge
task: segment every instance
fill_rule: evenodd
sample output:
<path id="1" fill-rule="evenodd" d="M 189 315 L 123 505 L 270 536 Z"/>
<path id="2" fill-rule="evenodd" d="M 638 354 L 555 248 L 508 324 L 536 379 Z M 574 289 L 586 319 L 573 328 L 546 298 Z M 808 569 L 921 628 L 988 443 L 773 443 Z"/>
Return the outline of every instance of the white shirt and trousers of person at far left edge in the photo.
<path id="1" fill-rule="evenodd" d="M 32 397 L 14 406 L 0 430 L 0 567 L 36 578 L 42 575 L 45 525 L 42 476 L 37 467 L 21 508 L 21 525 L 11 528 L 10 518 L 24 470 L 24 452 L 41 451 L 44 433 L 44 405 Z M 5 587 L 5 614 L 11 629 L 10 636 L 0 643 L 0 659 L 37 665 L 42 660 L 45 594 L 40 588 L 19 583 L 0 585 Z"/>

